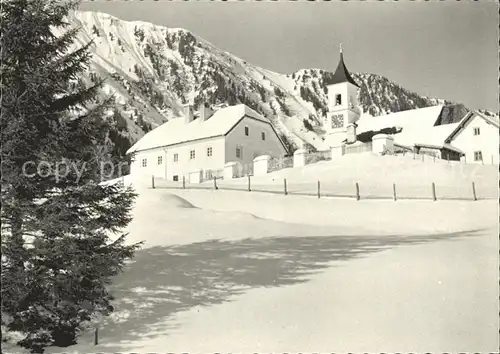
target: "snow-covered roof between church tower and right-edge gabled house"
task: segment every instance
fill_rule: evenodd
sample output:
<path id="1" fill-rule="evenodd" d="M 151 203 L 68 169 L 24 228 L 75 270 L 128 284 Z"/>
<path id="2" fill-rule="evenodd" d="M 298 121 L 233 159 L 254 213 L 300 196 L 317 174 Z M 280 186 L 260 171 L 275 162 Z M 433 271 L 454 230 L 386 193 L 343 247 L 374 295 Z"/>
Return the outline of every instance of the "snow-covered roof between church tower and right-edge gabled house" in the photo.
<path id="1" fill-rule="evenodd" d="M 384 128 L 400 127 L 402 131 L 394 134 L 394 143 L 413 146 L 427 144 L 443 146 L 446 138 L 459 123 L 434 126 L 443 109 L 442 105 L 412 109 L 384 116 L 363 116 L 358 122 L 357 133 L 379 131 Z"/>

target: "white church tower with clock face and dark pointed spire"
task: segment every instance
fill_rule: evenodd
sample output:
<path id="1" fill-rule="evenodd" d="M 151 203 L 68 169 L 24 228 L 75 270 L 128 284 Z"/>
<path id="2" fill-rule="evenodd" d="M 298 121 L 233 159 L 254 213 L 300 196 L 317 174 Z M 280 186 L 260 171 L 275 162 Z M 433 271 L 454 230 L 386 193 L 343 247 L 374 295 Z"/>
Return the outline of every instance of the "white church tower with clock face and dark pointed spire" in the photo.
<path id="1" fill-rule="evenodd" d="M 340 60 L 337 70 L 329 82 L 328 112 L 326 116 L 326 142 L 339 146 L 343 141 L 353 143 L 356 141 L 356 121 L 361 110 L 358 107 L 358 84 L 349 74 L 340 45 Z"/>

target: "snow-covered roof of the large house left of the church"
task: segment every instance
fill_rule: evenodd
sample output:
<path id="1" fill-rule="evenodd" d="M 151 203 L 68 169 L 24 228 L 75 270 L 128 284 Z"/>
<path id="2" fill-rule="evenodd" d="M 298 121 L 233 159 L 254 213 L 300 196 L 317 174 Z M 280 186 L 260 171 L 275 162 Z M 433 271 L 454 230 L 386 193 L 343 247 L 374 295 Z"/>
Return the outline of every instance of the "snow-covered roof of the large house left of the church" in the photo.
<path id="1" fill-rule="evenodd" d="M 264 123 L 270 121 L 244 104 L 229 106 L 216 111 L 205 121 L 195 119 L 186 123 L 184 117 L 174 118 L 150 131 L 128 151 L 158 148 L 193 140 L 206 139 L 227 134 L 244 116 L 249 116 Z"/>

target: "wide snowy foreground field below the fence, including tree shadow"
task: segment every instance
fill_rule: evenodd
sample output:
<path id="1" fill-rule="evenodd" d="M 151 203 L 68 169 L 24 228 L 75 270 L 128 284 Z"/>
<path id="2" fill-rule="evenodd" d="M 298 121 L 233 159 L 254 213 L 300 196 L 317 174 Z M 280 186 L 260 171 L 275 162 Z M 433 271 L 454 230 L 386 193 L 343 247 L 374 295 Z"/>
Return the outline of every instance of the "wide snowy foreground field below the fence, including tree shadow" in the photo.
<path id="1" fill-rule="evenodd" d="M 498 349 L 496 200 L 137 188 L 99 344 L 47 352 Z"/>

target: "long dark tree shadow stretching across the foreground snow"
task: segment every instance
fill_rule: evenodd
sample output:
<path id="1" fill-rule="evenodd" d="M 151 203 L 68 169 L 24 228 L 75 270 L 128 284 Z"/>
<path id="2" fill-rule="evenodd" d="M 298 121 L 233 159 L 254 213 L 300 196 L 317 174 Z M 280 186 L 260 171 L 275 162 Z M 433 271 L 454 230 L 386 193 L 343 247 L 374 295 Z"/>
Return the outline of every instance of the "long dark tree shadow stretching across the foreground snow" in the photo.
<path id="1" fill-rule="evenodd" d="M 168 328 L 176 326 L 170 317 L 179 311 L 231 301 L 251 288 L 307 282 L 335 262 L 400 245 L 474 235 L 478 231 L 412 237 L 274 237 L 144 249 L 113 283 L 115 315 L 124 316 L 101 323 L 100 344 L 120 351 L 120 344 L 168 335 Z"/>

